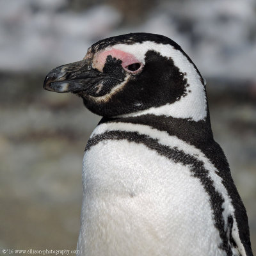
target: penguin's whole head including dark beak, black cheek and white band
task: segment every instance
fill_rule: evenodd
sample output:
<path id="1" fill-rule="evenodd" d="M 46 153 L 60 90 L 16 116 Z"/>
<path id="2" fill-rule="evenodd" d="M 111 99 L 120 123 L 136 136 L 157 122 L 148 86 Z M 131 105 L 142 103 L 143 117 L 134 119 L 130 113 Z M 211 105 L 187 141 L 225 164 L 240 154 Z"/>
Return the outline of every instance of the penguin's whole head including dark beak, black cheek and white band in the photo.
<path id="1" fill-rule="evenodd" d="M 202 120 L 205 86 L 188 55 L 170 38 L 150 33 L 93 44 L 82 61 L 54 68 L 44 88 L 72 92 L 105 117 L 145 114 Z"/>

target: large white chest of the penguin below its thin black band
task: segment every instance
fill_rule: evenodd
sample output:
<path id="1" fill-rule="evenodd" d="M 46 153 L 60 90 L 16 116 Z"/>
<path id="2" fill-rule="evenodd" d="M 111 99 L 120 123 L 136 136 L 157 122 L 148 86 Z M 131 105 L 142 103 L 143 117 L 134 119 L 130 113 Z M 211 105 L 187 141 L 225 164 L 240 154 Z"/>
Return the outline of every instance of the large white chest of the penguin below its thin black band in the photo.
<path id="1" fill-rule="evenodd" d="M 209 197 L 192 174 L 138 143 L 93 146 L 84 155 L 77 248 L 88 256 L 223 255 Z"/>

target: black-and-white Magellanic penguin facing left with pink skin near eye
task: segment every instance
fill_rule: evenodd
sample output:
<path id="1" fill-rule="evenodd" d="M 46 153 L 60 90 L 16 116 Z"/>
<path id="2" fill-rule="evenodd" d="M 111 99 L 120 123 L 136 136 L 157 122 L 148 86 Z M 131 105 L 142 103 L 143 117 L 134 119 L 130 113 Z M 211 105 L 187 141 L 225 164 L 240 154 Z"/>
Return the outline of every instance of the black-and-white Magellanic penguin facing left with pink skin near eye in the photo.
<path id="1" fill-rule="evenodd" d="M 178 44 L 106 38 L 49 72 L 44 88 L 103 116 L 84 153 L 79 255 L 252 255 L 204 79 Z"/>

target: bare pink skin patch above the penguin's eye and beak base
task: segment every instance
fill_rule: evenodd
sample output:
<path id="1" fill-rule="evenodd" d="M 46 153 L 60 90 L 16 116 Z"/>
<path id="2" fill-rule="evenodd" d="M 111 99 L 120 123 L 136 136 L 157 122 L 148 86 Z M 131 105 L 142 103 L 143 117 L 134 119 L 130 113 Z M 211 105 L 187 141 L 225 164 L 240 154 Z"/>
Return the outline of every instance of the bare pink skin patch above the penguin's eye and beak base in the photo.
<path id="1" fill-rule="evenodd" d="M 100 52 L 99 54 L 95 54 L 93 60 L 93 67 L 97 68 L 102 72 L 104 65 L 106 63 L 107 56 L 111 55 L 112 58 L 116 58 L 116 60 L 122 60 L 122 67 L 125 68 L 133 63 L 140 63 L 136 59 L 134 55 L 128 52 L 123 52 L 120 50 L 111 49 L 109 51 Z"/>

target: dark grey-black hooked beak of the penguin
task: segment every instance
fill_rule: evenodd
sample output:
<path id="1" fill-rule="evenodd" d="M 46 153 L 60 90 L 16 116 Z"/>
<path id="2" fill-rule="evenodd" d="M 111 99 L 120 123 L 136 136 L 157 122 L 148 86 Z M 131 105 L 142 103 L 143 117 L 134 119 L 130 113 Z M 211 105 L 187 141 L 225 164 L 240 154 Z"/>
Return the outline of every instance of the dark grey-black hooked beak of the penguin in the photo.
<path id="1" fill-rule="evenodd" d="M 92 68 L 92 59 L 62 65 L 52 69 L 44 80 L 44 89 L 51 92 L 83 92 L 102 79 L 99 70 Z"/>

